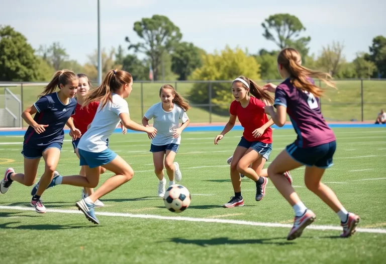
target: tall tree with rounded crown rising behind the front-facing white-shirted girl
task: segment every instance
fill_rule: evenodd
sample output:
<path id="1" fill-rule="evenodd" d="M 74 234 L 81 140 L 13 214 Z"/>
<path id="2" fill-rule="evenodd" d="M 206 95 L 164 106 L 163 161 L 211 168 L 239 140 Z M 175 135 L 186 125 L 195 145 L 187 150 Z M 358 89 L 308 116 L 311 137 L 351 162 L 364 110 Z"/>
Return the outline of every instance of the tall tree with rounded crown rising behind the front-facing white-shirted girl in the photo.
<path id="1" fill-rule="evenodd" d="M 144 53 L 149 58 L 154 80 L 158 80 L 161 74 L 159 66 L 164 52 L 170 52 L 180 41 L 182 34 L 167 17 L 160 15 L 142 18 L 141 21 L 134 23 L 133 29 L 144 41 L 135 44 L 126 37 L 126 41 L 130 43 L 129 50 Z"/>

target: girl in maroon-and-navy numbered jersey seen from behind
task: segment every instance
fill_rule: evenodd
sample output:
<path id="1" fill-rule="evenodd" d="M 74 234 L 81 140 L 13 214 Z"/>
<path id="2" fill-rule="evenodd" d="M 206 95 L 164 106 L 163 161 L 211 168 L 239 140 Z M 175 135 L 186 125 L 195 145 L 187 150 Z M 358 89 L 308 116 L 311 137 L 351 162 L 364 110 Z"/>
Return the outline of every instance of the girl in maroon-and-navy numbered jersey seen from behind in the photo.
<path id="1" fill-rule="evenodd" d="M 272 83 L 264 85 L 265 90 L 275 93 L 276 107 L 275 112 L 272 106 L 266 104 L 265 113 L 279 127 L 284 125 L 287 113 L 298 134 L 297 140 L 289 144 L 268 167 L 272 183 L 295 211 L 294 226 L 287 239 L 300 237 L 306 226 L 316 218 L 302 203 L 294 188 L 280 177 L 283 171 L 302 165 L 306 165 L 306 187 L 336 212 L 343 227 L 341 237 L 349 237 L 355 232 L 359 216 L 348 213 L 335 193 L 321 183 L 324 171 L 333 165 L 336 139 L 320 111 L 318 97 L 323 95 L 323 90 L 310 77 L 317 77 L 328 86 L 335 87 L 329 80 L 331 75 L 303 67 L 300 53 L 292 48 L 283 49 L 279 53 L 277 69 L 285 80 L 278 86 Z"/>

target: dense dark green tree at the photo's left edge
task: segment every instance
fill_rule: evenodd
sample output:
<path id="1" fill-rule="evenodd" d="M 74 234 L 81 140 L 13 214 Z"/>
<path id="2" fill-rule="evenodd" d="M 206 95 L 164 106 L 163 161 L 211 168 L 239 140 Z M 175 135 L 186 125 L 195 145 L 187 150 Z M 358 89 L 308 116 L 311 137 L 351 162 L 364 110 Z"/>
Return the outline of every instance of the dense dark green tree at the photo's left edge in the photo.
<path id="1" fill-rule="evenodd" d="M 34 81 L 41 78 L 39 61 L 26 37 L 11 26 L 0 26 L 0 80 Z"/>

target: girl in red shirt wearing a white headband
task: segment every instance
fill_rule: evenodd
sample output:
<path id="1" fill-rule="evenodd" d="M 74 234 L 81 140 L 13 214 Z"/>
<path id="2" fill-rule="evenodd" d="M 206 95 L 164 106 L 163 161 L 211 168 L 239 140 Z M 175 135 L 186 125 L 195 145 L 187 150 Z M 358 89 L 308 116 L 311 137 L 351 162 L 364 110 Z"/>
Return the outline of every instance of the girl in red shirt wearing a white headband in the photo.
<path id="1" fill-rule="evenodd" d="M 249 93 L 253 95 L 249 96 Z M 253 80 L 244 76 L 236 78 L 232 83 L 232 94 L 235 100 L 230 107 L 230 118 L 224 130 L 215 138 L 215 145 L 223 139 L 236 122 L 236 117 L 244 127 L 243 136 L 235 149 L 231 161 L 231 181 L 235 196 L 224 204 L 224 207 L 243 206 L 244 200 L 241 196 L 240 174 L 256 182 L 256 201 L 265 196 L 265 187 L 268 183 L 266 177 L 261 177 L 263 166 L 268 160 L 272 150 L 273 121 L 264 113 L 265 102 L 273 103 L 273 99 L 264 92 Z M 249 165 L 253 163 L 253 168 Z M 266 170 L 264 175 L 266 175 Z M 259 176 L 260 175 L 260 176 Z M 292 180 L 291 180 L 292 181 Z"/>

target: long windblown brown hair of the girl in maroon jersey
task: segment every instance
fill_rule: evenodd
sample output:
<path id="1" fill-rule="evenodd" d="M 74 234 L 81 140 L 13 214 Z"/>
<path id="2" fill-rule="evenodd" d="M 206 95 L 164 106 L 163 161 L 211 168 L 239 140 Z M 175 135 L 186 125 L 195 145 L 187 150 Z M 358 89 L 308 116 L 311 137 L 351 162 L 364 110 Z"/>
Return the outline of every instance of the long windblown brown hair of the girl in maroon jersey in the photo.
<path id="1" fill-rule="evenodd" d="M 312 93 L 316 97 L 323 96 L 323 88 L 316 86 L 310 81 L 310 77 L 315 77 L 322 80 L 328 86 L 336 88 L 332 77 L 327 72 L 308 69 L 301 65 L 302 57 L 300 53 L 293 48 L 285 48 L 280 51 L 277 56 L 277 63 L 282 65 L 284 69 L 291 75 L 291 82 L 298 89 Z"/>

